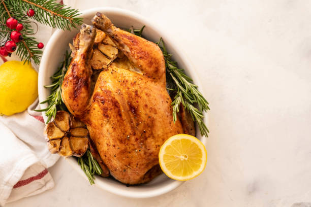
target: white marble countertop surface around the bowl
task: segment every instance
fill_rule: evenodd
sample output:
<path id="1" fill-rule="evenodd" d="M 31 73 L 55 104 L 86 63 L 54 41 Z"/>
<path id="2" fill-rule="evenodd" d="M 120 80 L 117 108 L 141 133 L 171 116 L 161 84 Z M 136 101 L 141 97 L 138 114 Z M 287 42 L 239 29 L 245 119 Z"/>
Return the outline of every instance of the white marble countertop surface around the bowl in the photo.
<path id="1" fill-rule="evenodd" d="M 60 159 L 49 169 L 52 190 L 6 206 L 311 206 L 311 1 L 75 7 L 99 6 L 158 23 L 192 58 L 211 108 L 206 169 L 168 194 L 130 199 L 90 186 Z"/>

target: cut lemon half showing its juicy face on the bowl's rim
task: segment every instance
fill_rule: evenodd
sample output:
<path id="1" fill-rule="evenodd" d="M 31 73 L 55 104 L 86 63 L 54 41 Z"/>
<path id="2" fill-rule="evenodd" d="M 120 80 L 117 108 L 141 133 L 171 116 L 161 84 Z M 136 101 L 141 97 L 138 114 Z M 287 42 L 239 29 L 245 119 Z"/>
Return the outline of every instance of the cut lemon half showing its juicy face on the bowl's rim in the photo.
<path id="1" fill-rule="evenodd" d="M 171 136 L 161 147 L 159 162 L 171 179 L 188 181 L 200 175 L 207 160 L 203 143 L 188 134 Z"/>

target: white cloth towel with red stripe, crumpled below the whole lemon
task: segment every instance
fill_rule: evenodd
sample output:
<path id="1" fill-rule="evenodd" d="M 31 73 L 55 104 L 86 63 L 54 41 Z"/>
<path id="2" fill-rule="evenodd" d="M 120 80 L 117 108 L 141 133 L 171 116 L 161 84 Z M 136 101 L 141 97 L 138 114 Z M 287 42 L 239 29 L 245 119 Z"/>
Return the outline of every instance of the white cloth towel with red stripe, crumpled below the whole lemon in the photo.
<path id="1" fill-rule="evenodd" d="M 46 168 L 57 161 L 58 155 L 48 151 L 43 129 L 44 123 L 27 111 L 0 117 L 1 206 L 8 199 L 17 200 L 54 186 Z"/>

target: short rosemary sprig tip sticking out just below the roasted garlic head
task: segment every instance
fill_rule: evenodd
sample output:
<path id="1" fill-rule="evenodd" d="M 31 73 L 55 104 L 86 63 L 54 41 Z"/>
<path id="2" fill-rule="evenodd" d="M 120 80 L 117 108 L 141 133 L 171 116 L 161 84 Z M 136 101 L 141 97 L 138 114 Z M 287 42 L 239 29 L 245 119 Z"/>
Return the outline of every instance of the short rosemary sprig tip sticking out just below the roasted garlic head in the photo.
<path id="1" fill-rule="evenodd" d="M 89 150 L 82 157 L 78 157 L 78 164 L 81 166 L 81 169 L 84 171 L 89 183 L 94 183 L 94 175 L 101 175 L 103 173 L 102 168 L 99 166 L 98 162 L 93 158 Z"/>

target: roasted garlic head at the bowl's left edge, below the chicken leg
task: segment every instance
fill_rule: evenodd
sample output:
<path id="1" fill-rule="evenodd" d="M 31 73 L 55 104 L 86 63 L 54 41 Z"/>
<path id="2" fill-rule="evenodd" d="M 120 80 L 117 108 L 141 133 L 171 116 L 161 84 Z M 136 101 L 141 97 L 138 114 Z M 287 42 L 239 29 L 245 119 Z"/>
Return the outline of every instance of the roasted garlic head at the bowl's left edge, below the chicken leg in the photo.
<path id="1" fill-rule="evenodd" d="M 85 124 L 68 112 L 57 111 L 55 119 L 46 125 L 44 133 L 52 154 L 81 157 L 88 148 Z"/>

